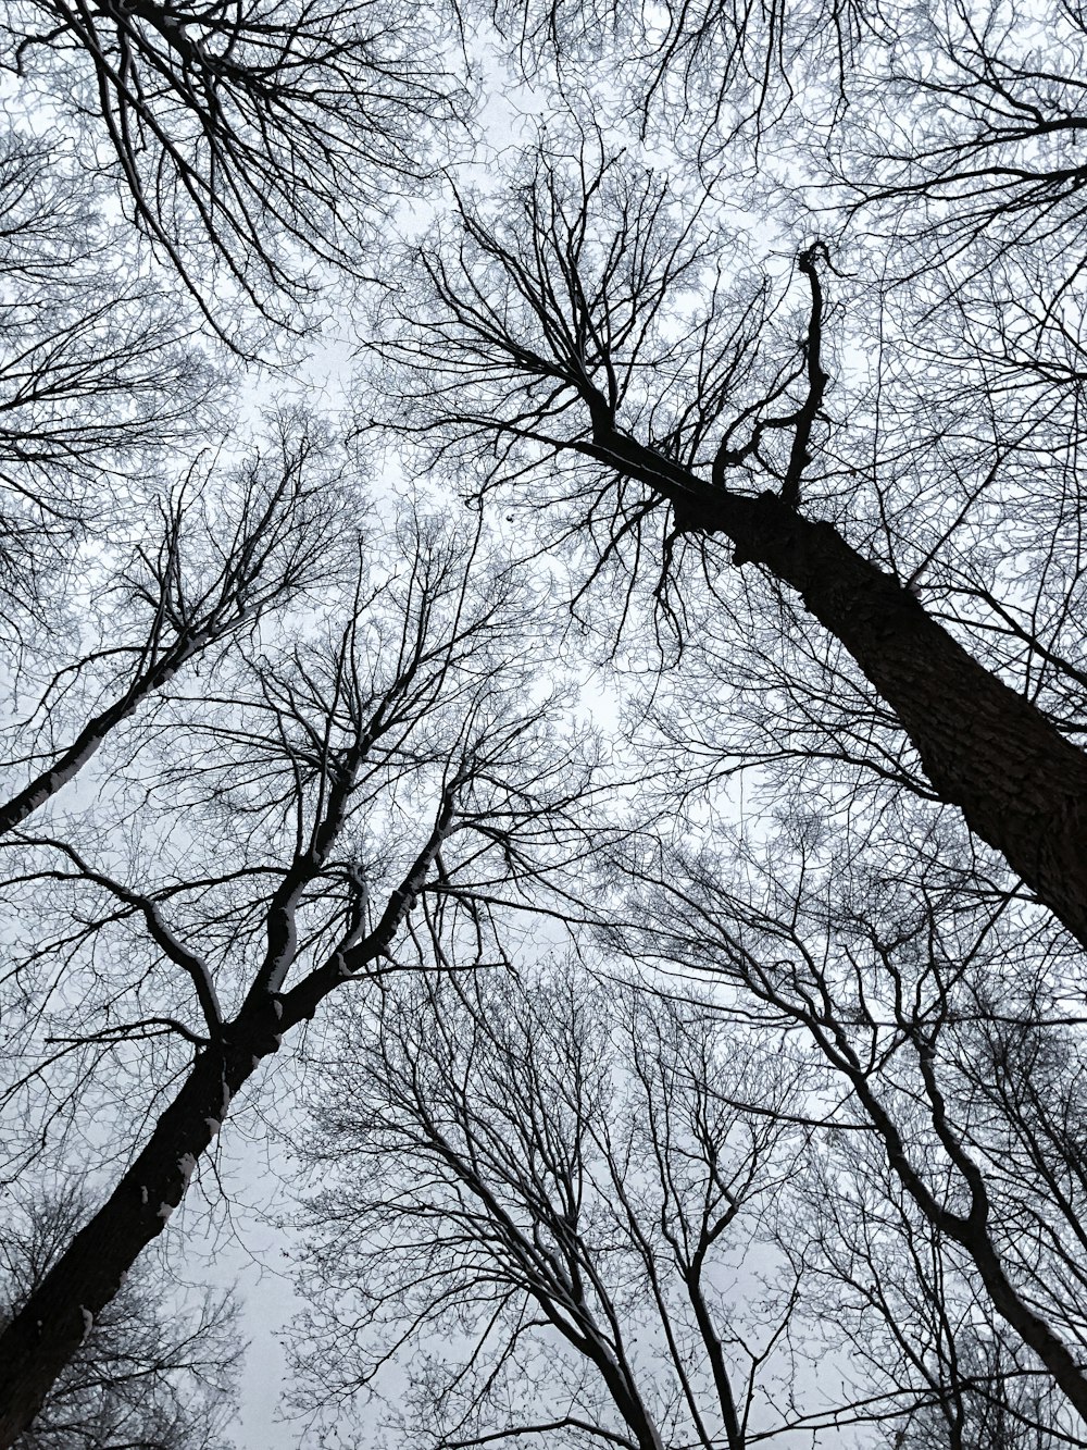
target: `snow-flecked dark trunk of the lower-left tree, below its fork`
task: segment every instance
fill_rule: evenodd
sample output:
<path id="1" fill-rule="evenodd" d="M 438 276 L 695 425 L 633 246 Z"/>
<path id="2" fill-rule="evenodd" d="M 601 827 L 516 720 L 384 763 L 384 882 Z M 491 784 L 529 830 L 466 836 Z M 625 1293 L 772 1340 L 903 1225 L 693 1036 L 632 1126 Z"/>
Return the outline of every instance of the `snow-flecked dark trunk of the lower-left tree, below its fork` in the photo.
<path id="1" fill-rule="evenodd" d="M 151 1138 L 94 1218 L 0 1334 L 0 1447 L 38 1414 L 94 1317 L 139 1253 L 162 1232 L 193 1169 L 226 1118 L 230 1098 L 278 1047 L 272 1003 L 229 1041 L 197 1057 Z"/>

